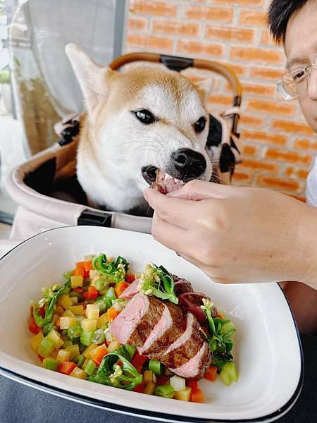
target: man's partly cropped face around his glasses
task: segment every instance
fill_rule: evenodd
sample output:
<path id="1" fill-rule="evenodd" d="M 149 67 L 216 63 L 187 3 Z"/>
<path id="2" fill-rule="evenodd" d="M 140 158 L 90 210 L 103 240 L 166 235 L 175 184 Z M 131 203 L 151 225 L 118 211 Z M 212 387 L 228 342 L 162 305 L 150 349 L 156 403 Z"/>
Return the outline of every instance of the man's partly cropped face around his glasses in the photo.
<path id="1" fill-rule="evenodd" d="M 309 1 L 290 18 L 285 36 L 285 54 L 289 71 L 311 63 L 317 65 L 316 1 Z M 309 72 L 308 89 L 299 96 L 299 104 L 307 123 L 317 133 L 317 69 L 311 66 Z"/>

